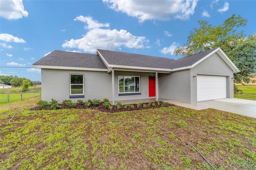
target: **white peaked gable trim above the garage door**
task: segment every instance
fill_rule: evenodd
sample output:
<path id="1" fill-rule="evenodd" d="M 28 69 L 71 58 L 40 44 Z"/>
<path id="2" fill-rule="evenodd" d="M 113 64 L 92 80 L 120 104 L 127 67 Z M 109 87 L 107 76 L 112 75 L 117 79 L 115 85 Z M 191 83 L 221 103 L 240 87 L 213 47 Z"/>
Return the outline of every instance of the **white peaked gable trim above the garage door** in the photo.
<path id="1" fill-rule="evenodd" d="M 204 61 L 206 58 L 210 57 L 214 53 L 217 53 L 225 61 L 225 63 L 234 71 L 234 73 L 240 72 L 240 70 L 236 67 L 236 65 L 234 65 L 234 63 L 228 58 L 228 56 L 222 51 L 222 49 L 220 49 L 220 47 L 218 47 L 217 49 L 215 49 L 214 51 L 206 55 L 204 58 L 194 63 L 191 66 L 191 68 L 195 67 L 196 65 L 198 65 L 199 63 L 201 63 L 202 61 Z"/>

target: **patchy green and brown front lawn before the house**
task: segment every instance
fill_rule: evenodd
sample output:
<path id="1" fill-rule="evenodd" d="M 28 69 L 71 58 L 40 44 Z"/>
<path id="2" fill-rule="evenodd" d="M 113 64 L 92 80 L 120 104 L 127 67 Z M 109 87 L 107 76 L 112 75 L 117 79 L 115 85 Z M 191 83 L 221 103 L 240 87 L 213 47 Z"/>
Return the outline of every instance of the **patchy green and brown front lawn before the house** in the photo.
<path id="1" fill-rule="evenodd" d="M 0 107 L 1 169 L 211 169 L 184 140 L 216 169 L 256 167 L 254 118 L 178 106 L 119 113 L 24 106 L 35 103 Z"/>

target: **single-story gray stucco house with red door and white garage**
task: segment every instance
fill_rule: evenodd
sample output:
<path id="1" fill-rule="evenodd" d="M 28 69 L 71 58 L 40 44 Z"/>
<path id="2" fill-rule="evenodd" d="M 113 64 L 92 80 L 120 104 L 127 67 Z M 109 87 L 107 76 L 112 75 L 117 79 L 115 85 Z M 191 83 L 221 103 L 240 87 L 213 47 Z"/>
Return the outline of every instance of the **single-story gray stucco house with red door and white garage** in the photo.
<path id="1" fill-rule="evenodd" d="M 55 50 L 36 61 L 42 100 L 172 99 L 196 103 L 234 98 L 239 69 L 215 48 L 180 59 L 97 49 L 96 54 Z"/>

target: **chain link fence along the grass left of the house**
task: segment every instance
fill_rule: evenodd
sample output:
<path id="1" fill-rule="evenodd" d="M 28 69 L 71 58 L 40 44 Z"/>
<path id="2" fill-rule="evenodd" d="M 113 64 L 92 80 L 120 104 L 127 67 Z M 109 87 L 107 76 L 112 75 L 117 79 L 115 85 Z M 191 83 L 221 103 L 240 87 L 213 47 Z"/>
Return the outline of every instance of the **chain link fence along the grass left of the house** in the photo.
<path id="1" fill-rule="evenodd" d="M 0 102 L 1 103 L 12 103 L 16 101 L 24 101 L 30 99 L 32 97 L 41 96 L 41 89 L 17 92 L 17 93 L 9 93 L 9 92 L 1 92 L 0 93 Z"/>

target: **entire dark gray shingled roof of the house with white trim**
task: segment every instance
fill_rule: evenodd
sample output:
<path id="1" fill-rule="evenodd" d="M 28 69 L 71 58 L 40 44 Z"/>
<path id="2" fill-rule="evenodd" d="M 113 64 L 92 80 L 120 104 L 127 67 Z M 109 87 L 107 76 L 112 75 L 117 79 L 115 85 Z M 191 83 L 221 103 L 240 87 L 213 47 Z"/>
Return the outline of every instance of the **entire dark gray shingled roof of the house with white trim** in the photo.
<path id="1" fill-rule="evenodd" d="M 58 66 L 59 67 L 57 69 L 62 69 L 60 67 L 80 67 L 81 69 L 92 68 L 95 71 L 100 69 L 101 71 L 105 71 L 104 69 L 107 69 L 108 67 L 119 67 L 126 69 L 135 67 L 136 69 L 158 71 L 172 71 L 172 69 L 174 69 L 173 71 L 178 71 L 180 69 L 189 69 L 194 67 L 198 62 L 210 56 L 212 52 L 218 53 L 218 55 L 222 57 L 222 59 L 230 66 L 231 69 L 234 70 L 234 72 L 239 72 L 234 63 L 232 63 L 232 61 L 224 54 L 220 48 L 210 49 L 208 51 L 176 60 L 103 49 L 97 49 L 97 54 L 55 50 L 42 59 L 38 60 L 33 65 L 34 67 L 52 69 L 56 69 Z"/>

